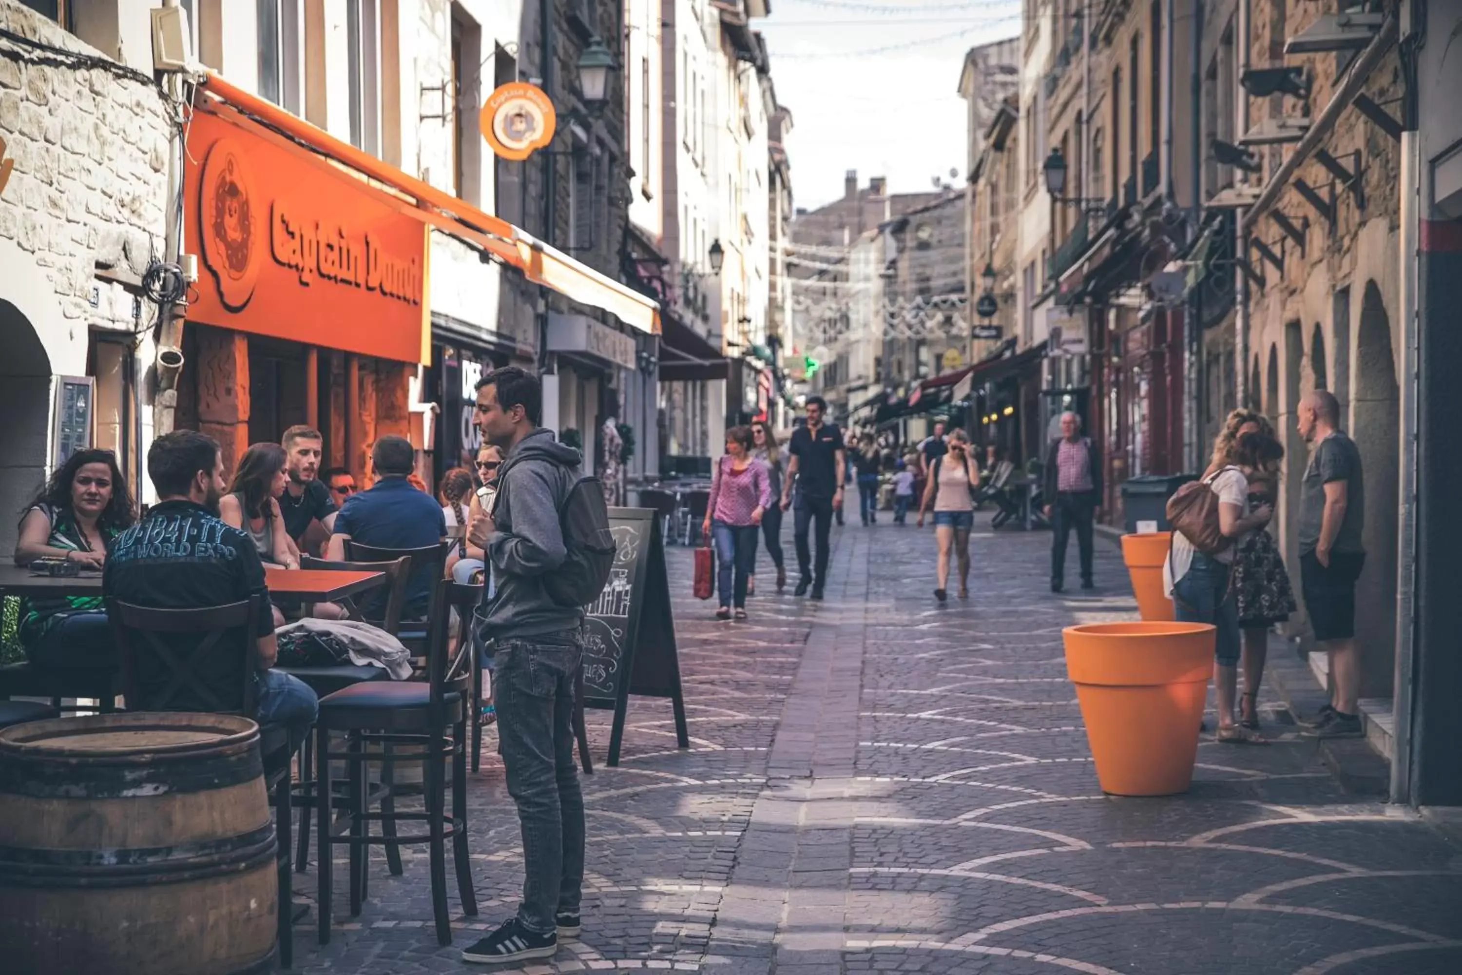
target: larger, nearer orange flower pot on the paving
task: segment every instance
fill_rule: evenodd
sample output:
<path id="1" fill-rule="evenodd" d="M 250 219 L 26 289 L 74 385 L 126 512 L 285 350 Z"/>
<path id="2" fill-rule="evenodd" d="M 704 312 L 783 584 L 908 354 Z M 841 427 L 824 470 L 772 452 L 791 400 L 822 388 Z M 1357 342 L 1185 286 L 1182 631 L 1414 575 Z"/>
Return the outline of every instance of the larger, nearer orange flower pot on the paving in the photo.
<path id="1" fill-rule="evenodd" d="M 1102 792 L 1187 791 L 1213 672 L 1208 623 L 1089 623 L 1061 631 Z"/>

